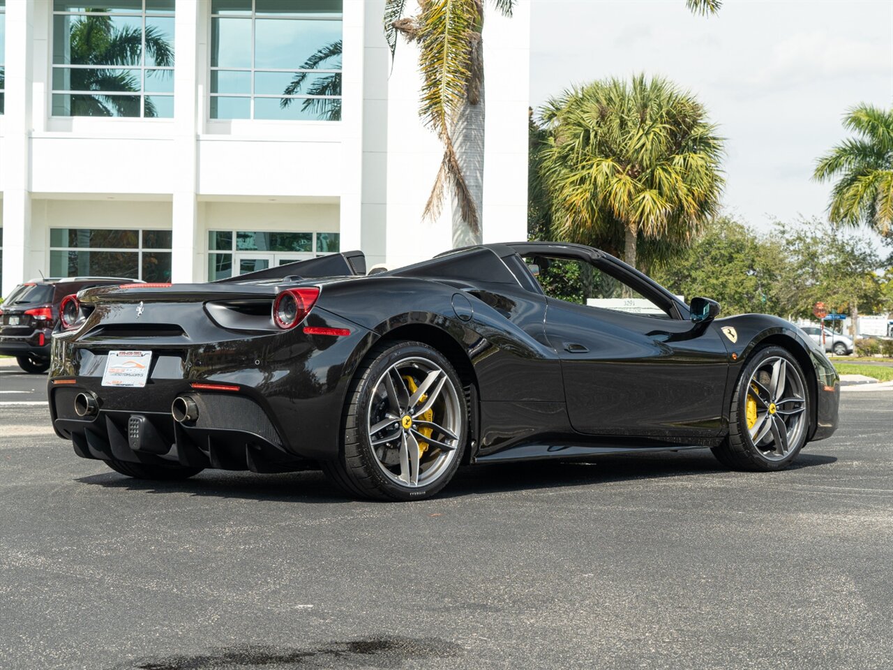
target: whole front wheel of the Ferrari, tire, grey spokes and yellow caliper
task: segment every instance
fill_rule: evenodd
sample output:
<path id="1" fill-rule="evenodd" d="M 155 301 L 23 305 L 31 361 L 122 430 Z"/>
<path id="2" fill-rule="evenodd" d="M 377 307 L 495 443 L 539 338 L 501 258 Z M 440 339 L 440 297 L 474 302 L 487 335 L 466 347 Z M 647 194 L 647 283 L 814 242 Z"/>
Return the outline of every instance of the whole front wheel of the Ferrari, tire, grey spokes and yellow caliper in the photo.
<path id="1" fill-rule="evenodd" d="M 713 452 L 738 470 L 781 470 L 806 443 L 809 394 L 800 365 L 786 349 L 754 353 L 731 401 L 729 435 Z"/>

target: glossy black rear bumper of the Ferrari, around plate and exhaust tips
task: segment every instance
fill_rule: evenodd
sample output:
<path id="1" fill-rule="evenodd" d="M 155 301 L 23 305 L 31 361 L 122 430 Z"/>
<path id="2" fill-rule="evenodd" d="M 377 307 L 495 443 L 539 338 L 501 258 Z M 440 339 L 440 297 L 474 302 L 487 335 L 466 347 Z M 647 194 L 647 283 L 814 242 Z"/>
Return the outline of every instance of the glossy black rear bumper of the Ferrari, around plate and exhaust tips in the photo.
<path id="1" fill-rule="evenodd" d="M 346 387 L 374 335 L 321 309 L 308 324 L 351 334 L 289 331 L 188 348 L 56 337 L 47 385 L 54 430 L 79 456 L 104 460 L 284 472 L 336 458 Z M 102 385 L 110 348 L 153 351 L 145 388 Z M 234 389 L 192 388 L 196 383 Z M 80 392 L 94 394 L 96 415 L 75 413 Z M 195 421 L 174 421 L 179 396 L 196 402 Z M 142 432 L 134 438 L 136 424 Z"/>

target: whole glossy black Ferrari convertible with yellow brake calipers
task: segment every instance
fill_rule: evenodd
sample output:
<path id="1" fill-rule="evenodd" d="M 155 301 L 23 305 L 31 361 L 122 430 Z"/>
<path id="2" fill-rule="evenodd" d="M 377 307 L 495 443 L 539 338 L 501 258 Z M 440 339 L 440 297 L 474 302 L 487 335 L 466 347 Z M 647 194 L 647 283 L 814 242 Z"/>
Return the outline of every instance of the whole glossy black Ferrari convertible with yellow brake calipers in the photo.
<path id="1" fill-rule="evenodd" d="M 793 324 L 719 311 L 578 245 L 368 276 L 348 252 L 81 291 L 49 404 L 78 456 L 148 479 L 321 468 L 352 495 L 411 500 L 462 464 L 712 448 L 778 470 L 835 430 L 838 375 Z"/>

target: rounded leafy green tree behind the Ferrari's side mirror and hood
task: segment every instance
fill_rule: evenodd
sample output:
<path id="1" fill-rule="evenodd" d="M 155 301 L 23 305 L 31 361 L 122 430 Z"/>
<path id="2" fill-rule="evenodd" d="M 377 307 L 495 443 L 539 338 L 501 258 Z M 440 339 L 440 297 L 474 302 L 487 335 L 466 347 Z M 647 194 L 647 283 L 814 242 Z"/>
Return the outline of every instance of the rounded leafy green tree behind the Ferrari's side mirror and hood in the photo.
<path id="1" fill-rule="evenodd" d="M 675 262 L 653 276 L 686 300 L 714 298 L 724 315 L 783 315 L 779 289 L 785 263 L 776 239 L 761 238 L 747 225 L 722 216 L 708 222 Z"/>

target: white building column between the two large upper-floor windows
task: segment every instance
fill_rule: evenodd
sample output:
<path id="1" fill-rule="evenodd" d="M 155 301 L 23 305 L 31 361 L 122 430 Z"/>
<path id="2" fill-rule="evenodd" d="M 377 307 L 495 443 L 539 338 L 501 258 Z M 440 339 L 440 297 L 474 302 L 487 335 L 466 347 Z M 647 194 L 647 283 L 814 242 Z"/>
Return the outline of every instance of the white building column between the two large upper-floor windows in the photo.
<path id="1" fill-rule="evenodd" d="M 196 202 L 198 156 L 197 129 L 197 66 L 198 25 L 208 3 L 177 3 L 174 23 L 173 74 L 173 146 L 171 171 L 173 194 L 171 224 L 173 226 L 171 281 L 205 281 L 206 272 L 196 264 L 196 248 L 202 243 Z"/>

